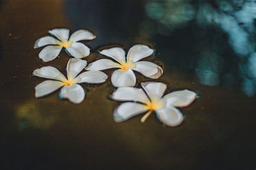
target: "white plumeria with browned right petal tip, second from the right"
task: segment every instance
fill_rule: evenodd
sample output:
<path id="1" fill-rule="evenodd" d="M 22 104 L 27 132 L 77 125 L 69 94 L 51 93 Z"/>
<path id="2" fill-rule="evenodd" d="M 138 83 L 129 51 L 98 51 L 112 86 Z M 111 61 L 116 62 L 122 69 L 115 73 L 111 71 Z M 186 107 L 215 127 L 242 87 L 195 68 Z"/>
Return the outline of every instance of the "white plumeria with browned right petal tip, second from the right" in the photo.
<path id="1" fill-rule="evenodd" d="M 117 62 L 109 59 L 100 59 L 86 67 L 86 70 L 104 70 L 110 68 L 119 68 L 114 71 L 111 76 L 111 82 L 115 87 L 134 86 L 136 84 L 136 76 L 132 70 L 138 71 L 148 78 L 159 78 L 163 74 L 163 69 L 153 62 L 138 61 L 149 55 L 154 50 L 146 45 L 134 45 L 130 48 L 127 58 L 122 48 L 114 47 L 100 51 L 101 54 L 111 57 Z"/>

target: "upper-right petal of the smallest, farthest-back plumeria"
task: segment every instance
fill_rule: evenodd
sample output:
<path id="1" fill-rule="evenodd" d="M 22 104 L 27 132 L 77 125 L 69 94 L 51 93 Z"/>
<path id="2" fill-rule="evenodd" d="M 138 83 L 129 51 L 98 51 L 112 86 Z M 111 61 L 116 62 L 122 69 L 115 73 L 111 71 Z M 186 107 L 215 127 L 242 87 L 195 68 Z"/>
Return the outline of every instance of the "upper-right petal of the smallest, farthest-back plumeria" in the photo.
<path id="1" fill-rule="evenodd" d="M 92 32 L 84 30 L 84 29 L 80 29 L 77 30 L 76 32 L 74 32 L 69 40 L 72 41 L 73 43 L 75 43 L 76 41 L 81 41 L 81 40 L 89 40 L 89 39 L 94 39 L 95 35 L 93 35 Z"/>

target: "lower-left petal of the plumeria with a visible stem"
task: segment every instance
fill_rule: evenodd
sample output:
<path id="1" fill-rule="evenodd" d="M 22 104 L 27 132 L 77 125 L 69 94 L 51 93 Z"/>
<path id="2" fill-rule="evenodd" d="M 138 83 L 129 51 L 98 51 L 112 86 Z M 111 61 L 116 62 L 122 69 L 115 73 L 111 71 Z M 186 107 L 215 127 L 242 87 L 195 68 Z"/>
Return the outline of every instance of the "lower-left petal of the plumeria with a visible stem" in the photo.
<path id="1" fill-rule="evenodd" d="M 144 104 L 133 102 L 122 103 L 114 111 L 113 117 L 116 122 L 123 122 L 124 120 L 127 120 L 128 118 L 143 113 L 147 110 L 148 109 L 145 107 Z"/>

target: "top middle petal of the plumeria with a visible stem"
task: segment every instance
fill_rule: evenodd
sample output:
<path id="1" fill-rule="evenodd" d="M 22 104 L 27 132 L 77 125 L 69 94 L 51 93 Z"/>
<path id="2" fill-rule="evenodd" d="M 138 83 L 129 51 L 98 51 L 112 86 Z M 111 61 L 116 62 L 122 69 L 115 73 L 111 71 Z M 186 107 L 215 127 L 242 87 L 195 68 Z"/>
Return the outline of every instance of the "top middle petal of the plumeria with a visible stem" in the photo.
<path id="1" fill-rule="evenodd" d="M 166 90 L 166 84 L 160 82 L 145 82 L 141 86 L 152 100 L 160 99 Z"/>

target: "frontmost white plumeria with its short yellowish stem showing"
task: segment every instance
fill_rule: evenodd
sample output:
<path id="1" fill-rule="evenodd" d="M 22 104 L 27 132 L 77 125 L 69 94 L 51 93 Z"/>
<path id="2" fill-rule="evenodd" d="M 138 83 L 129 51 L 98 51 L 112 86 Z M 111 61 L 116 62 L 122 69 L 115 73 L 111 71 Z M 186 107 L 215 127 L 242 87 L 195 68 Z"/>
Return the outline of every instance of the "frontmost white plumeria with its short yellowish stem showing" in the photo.
<path id="1" fill-rule="evenodd" d="M 175 107 L 185 107 L 191 104 L 196 97 L 195 92 L 180 90 L 166 94 L 166 85 L 159 82 L 141 83 L 145 90 L 134 87 L 119 87 L 113 92 L 112 98 L 116 101 L 133 101 L 120 104 L 113 113 L 116 122 L 123 122 L 135 115 L 148 111 L 142 118 L 145 122 L 147 117 L 156 111 L 157 118 L 168 126 L 177 126 L 183 121 L 183 115 Z M 137 103 L 139 102 L 139 103 Z"/>

